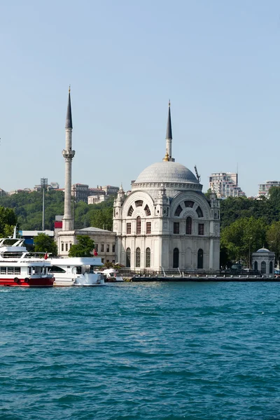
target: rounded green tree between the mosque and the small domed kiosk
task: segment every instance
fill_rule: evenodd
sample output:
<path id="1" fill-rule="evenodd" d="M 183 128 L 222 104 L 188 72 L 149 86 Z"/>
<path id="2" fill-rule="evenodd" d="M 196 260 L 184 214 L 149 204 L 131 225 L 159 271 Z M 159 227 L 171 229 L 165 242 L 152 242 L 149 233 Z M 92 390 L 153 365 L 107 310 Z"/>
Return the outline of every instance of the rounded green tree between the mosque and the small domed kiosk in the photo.
<path id="1" fill-rule="evenodd" d="M 266 244 L 267 224 L 263 219 L 239 218 L 221 231 L 221 247 L 231 260 L 249 262 L 250 251 L 257 251 Z"/>

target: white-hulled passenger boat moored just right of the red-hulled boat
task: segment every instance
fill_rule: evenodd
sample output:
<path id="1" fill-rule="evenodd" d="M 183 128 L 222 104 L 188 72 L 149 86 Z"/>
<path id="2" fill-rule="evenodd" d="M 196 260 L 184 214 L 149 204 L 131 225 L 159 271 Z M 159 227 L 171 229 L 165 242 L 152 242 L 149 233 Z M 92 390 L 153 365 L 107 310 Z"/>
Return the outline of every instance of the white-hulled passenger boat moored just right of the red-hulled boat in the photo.
<path id="1" fill-rule="evenodd" d="M 94 272 L 102 265 L 101 258 L 73 257 L 49 258 L 54 274 L 53 286 L 104 286 L 104 276 L 101 272 Z"/>

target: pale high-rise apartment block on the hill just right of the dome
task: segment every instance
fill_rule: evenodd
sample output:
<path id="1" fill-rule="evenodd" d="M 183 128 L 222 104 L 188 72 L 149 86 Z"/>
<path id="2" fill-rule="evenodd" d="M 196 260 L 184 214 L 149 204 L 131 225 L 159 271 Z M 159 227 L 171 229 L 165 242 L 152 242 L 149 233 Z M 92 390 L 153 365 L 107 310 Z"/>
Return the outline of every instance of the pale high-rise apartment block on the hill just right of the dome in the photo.
<path id="1" fill-rule="evenodd" d="M 236 172 L 215 172 L 209 176 L 209 188 L 218 198 L 246 197 L 238 186 Z"/>

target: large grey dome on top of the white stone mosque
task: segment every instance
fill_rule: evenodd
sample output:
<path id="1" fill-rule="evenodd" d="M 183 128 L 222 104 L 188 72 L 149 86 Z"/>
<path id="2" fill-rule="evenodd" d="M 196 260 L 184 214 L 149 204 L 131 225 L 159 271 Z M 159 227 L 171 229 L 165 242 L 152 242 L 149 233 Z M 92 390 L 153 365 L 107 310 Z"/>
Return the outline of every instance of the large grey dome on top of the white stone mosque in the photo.
<path id="1" fill-rule="evenodd" d="M 134 183 L 195 183 L 199 184 L 190 169 L 177 162 L 157 162 L 144 169 Z"/>

